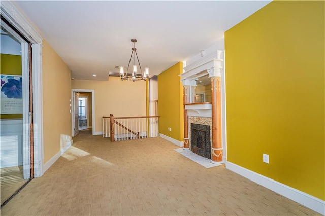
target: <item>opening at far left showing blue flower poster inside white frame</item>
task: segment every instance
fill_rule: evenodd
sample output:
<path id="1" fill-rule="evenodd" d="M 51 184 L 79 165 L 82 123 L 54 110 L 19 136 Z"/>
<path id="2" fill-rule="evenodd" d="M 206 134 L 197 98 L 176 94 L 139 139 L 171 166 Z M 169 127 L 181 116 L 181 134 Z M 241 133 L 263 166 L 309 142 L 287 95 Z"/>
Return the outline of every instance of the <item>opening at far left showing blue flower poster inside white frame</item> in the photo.
<path id="1" fill-rule="evenodd" d="M 23 55 L 21 39 L 17 39 L 1 25 L 1 141 L 0 141 L 0 186 L 1 204 L 10 198 L 27 179 L 24 179 L 23 158 L 23 75 L 28 70 L 22 69 Z M 27 81 L 28 82 L 28 81 Z M 29 143 L 25 143 L 28 145 Z"/>

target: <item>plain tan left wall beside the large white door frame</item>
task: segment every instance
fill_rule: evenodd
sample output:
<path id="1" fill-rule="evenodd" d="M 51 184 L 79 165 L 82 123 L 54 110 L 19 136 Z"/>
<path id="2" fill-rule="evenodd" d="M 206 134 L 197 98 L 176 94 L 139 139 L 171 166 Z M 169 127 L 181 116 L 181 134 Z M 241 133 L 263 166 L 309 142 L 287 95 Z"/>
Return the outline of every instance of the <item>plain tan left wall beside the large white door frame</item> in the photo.
<path id="1" fill-rule="evenodd" d="M 60 151 L 61 137 L 71 137 L 71 71 L 51 46 L 43 41 L 44 163 Z"/>

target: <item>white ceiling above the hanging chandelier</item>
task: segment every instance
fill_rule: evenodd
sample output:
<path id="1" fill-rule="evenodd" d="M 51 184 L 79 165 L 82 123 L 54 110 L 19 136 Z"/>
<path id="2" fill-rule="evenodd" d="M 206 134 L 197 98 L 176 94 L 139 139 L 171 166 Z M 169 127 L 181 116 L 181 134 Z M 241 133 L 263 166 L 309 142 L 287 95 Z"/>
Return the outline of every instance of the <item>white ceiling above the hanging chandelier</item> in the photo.
<path id="1" fill-rule="evenodd" d="M 200 53 L 270 1 L 15 1 L 72 70 L 107 80 L 128 64 L 132 38 L 141 63 L 158 75 Z M 223 44 L 223 43 L 222 43 Z M 219 49 L 223 49 L 220 47 Z M 97 77 L 92 75 L 96 74 Z"/>

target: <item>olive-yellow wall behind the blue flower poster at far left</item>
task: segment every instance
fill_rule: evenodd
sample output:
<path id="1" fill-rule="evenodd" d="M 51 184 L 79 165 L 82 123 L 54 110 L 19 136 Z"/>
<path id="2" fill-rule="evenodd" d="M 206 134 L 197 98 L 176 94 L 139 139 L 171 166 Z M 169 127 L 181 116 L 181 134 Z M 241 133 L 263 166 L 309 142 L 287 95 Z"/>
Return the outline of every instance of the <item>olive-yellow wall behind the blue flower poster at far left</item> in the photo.
<path id="1" fill-rule="evenodd" d="M 21 75 L 21 55 L 1 53 L 0 74 Z M 1 119 L 22 119 L 22 114 L 0 114 Z"/>

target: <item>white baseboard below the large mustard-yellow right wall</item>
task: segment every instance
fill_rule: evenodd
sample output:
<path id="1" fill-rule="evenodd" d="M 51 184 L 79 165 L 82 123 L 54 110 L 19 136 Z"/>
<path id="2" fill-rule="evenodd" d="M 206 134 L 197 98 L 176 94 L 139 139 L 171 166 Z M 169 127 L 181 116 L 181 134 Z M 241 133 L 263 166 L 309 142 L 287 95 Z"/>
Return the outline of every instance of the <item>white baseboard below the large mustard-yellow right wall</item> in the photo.
<path id="1" fill-rule="evenodd" d="M 238 166 L 231 162 L 226 162 L 226 168 L 233 172 L 236 172 L 237 174 L 240 174 L 240 175 L 244 176 L 245 178 L 248 178 L 251 181 L 253 181 L 259 185 L 262 185 L 278 194 L 281 194 L 282 196 L 285 196 L 285 197 L 287 197 L 291 200 L 294 200 L 295 202 L 298 202 L 314 211 L 317 211 L 318 213 L 320 213 L 322 215 L 325 214 L 325 201 L 324 200 L 313 197 L 305 192 L 291 188 L 287 185 L 284 185 L 282 183 L 274 181 L 271 178 L 268 178 L 264 175 L 253 172 L 249 169 Z"/>

